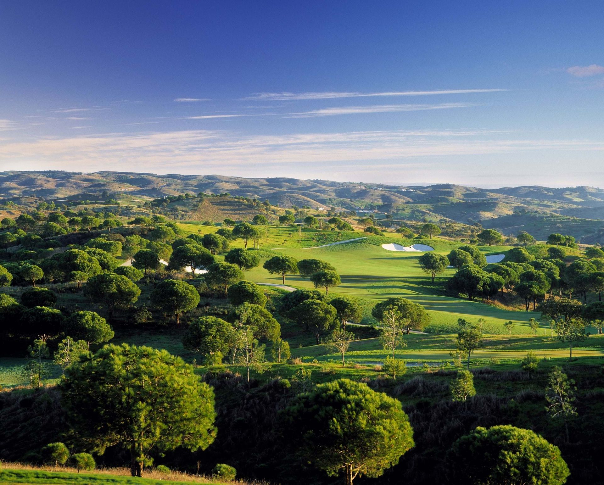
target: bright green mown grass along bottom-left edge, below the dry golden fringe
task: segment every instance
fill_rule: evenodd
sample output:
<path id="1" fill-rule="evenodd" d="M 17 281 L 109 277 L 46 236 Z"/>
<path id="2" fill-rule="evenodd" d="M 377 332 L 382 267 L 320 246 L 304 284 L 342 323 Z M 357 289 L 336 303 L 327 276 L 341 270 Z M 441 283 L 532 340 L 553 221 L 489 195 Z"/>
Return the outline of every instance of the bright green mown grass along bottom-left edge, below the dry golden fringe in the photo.
<path id="1" fill-rule="evenodd" d="M 190 484 L 191 481 L 167 481 L 153 480 L 150 478 L 127 477 L 124 475 L 109 475 L 109 474 L 89 474 L 89 473 L 66 473 L 66 472 L 51 472 L 45 470 L 15 470 L 2 469 L 0 471 L 0 483 L 53 483 L 60 485 L 93 485 L 115 483 L 118 485 L 159 485 L 164 483 L 174 485 Z M 199 481 L 198 483 L 214 483 L 219 485 L 223 482 L 214 481 Z"/>

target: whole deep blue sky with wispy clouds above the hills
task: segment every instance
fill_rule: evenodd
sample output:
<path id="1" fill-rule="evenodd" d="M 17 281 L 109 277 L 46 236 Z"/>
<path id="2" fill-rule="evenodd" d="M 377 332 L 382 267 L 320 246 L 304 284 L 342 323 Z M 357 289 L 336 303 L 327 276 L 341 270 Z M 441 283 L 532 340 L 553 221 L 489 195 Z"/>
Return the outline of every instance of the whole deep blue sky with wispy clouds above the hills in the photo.
<path id="1" fill-rule="evenodd" d="M 604 187 L 602 1 L 0 2 L 0 172 Z"/>

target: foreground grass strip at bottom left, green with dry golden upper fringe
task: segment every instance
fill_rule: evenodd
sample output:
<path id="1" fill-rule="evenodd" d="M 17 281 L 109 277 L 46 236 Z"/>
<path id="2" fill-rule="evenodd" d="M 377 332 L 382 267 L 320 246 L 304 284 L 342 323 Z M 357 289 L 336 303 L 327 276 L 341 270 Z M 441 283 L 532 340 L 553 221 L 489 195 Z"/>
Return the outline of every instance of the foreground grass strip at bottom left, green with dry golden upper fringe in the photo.
<path id="1" fill-rule="evenodd" d="M 27 484 L 60 484 L 60 485 L 94 485 L 114 483 L 118 485 L 159 485 L 170 481 L 174 485 L 189 483 L 213 483 L 226 485 L 225 481 L 213 481 L 205 477 L 196 477 L 181 472 L 170 472 L 164 474 L 155 470 L 146 471 L 151 478 L 137 478 L 130 476 L 127 468 L 99 469 L 95 472 L 77 473 L 74 468 L 33 467 L 19 463 L 6 463 L 0 467 L 0 483 L 27 483 Z"/>

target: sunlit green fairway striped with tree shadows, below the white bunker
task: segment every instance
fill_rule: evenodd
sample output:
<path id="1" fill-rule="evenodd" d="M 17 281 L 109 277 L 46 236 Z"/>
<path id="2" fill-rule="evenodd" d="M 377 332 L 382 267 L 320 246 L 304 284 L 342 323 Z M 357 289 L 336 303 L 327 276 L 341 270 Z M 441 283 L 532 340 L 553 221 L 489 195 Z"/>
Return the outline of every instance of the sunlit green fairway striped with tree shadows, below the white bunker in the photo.
<path id="1" fill-rule="evenodd" d="M 381 247 L 382 243 L 390 242 L 411 245 L 417 243 L 417 240 L 371 237 L 325 248 L 284 247 L 275 252 L 290 255 L 298 260 L 316 258 L 331 263 L 342 280 L 342 284 L 332 290 L 334 295 L 348 295 L 373 301 L 405 297 L 422 304 L 432 317 L 431 323 L 426 328 L 428 332 L 451 332 L 457 326 L 458 318 L 474 322 L 478 318 L 485 318 L 487 320 L 484 326 L 485 332 L 503 333 L 503 323 L 512 320 L 516 323 L 513 333 L 522 335 L 529 331 L 528 320 L 539 316 L 532 312 L 514 312 L 484 303 L 435 294 L 432 289 L 423 286 L 423 283 L 429 281 L 429 277 L 423 274 L 417 262 L 423 253 L 387 251 Z M 448 254 L 451 249 L 460 245 L 457 242 L 441 239 L 420 242 L 432 245 L 435 251 L 441 254 Z M 509 248 L 493 246 L 484 249 L 485 252 L 498 254 Z M 447 269 L 443 277 L 449 278 L 453 274 L 454 269 Z M 246 278 L 260 283 L 281 283 L 278 275 L 269 275 L 261 266 L 246 272 Z M 286 284 L 294 287 L 313 287 L 310 280 L 299 275 L 286 277 Z"/>

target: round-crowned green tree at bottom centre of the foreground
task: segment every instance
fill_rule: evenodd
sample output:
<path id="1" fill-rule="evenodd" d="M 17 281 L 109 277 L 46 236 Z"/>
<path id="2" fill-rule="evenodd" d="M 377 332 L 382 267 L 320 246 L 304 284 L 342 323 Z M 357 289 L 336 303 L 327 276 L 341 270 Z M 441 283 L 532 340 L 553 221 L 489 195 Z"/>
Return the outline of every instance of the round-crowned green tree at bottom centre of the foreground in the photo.
<path id="1" fill-rule="evenodd" d="M 400 401 L 349 379 L 317 385 L 285 410 L 304 460 L 333 477 L 379 477 L 413 448 L 413 429 Z"/>

